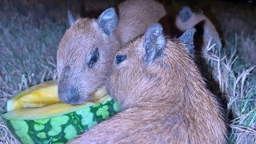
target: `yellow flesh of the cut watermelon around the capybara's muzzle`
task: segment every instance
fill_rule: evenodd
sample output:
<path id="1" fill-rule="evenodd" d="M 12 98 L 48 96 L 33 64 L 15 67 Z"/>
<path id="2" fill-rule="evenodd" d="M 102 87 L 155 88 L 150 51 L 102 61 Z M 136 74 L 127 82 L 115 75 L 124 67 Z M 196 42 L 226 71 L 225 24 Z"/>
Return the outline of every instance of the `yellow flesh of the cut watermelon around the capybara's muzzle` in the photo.
<path id="1" fill-rule="evenodd" d="M 93 95 L 92 101 L 98 101 L 106 96 L 106 87 L 98 89 Z M 20 108 L 37 108 L 62 103 L 58 98 L 57 81 L 43 82 L 32 86 L 27 90 L 10 98 L 7 101 L 7 111 Z"/>

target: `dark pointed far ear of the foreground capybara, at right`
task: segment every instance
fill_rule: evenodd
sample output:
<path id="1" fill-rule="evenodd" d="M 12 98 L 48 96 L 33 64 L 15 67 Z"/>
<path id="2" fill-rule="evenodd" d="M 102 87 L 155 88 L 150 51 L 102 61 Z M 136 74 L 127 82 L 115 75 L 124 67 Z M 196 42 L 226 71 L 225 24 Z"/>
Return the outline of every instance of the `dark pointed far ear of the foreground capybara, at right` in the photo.
<path id="1" fill-rule="evenodd" d="M 191 28 L 190 30 L 186 30 L 186 32 L 178 38 L 180 42 L 186 45 L 186 51 L 190 53 L 192 58 L 194 58 L 194 33 L 195 29 Z"/>

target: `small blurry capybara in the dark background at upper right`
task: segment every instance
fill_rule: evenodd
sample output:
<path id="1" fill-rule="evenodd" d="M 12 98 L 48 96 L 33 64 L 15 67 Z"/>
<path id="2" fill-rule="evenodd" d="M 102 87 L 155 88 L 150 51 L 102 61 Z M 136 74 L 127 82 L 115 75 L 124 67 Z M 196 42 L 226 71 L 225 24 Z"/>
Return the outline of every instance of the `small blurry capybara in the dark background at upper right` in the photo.
<path id="1" fill-rule="evenodd" d="M 179 14 L 175 20 L 175 25 L 178 27 L 179 30 L 182 31 L 189 30 L 192 27 L 198 25 L 199 23 L 201 23 L 203 30 L 202 47 L 206 47 L 211 39 L 211 44 L 215 43 L 215 47 L 220 50 L 222 48 L 222 41 L 218 35 L 218 31 L 216 30 L 214 24 L 210 21 L 209 18 L 206 17 L 205 14 L 193 13 L 189 7 L 184 6 L 182 10 L 179 11 Z"/>

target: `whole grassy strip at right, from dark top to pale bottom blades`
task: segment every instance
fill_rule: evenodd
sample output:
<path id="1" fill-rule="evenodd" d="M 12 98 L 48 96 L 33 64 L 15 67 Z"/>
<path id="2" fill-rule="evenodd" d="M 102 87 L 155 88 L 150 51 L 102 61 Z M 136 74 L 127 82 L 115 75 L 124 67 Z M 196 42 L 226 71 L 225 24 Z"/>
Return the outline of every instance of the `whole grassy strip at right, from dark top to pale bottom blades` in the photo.
<path id="1" fill-rule="evenodd" d="M 222 3 L 218 14 L 226 45 L 222 51 L 206 53 L 215 78 L 228 101 L 230 143 L 256 142 L 256 14 L 255 6 L 232 6 Z M 222 12 L 225 9 L 225 13 Z M 217 56 L 217 58 L 213 58 Z"/>

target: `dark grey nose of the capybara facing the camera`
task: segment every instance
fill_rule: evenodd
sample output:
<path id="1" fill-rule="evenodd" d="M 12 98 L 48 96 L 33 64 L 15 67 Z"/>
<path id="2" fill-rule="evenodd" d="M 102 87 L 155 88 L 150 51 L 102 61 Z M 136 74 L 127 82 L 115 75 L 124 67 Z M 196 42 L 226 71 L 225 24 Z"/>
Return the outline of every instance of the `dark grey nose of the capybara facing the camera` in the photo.
<path id="1" fill-rule="evenodd" d="M 61 87 L 58 88 L 58 98 L 70 105 L 79 105 L 82 104 L 81 94 L 78 89 L 75 87 Z"/>

